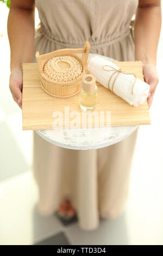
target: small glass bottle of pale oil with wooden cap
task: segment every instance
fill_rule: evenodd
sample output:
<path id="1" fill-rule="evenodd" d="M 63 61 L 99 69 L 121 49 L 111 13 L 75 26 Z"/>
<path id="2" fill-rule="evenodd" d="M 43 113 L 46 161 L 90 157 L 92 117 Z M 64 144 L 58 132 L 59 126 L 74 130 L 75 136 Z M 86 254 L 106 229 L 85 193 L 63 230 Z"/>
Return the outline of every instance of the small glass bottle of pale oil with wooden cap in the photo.
<path id="1" fill-rule="evenodd" d="M 83 111 L 93 111 L 97 105 L 97 94 L 96 77 L 92 74 L 83 75 L 80 108 Z"/>

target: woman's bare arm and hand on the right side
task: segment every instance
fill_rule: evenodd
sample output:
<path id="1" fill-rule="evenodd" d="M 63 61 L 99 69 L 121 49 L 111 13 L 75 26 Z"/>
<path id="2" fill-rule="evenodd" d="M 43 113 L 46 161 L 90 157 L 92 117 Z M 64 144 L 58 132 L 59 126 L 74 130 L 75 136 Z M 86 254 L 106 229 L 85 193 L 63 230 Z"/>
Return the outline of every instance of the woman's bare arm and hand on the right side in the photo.
<path id="1" fill-rule="evenodd" d="M 158 74 L 156 71 L 156 52 L 161 31 L 160 0 L 139 0 L 135 15 L 134 38 L 135 60 L 141 60 L 145 81 L 150 84 L 148 107 L 151 107 Z"/>

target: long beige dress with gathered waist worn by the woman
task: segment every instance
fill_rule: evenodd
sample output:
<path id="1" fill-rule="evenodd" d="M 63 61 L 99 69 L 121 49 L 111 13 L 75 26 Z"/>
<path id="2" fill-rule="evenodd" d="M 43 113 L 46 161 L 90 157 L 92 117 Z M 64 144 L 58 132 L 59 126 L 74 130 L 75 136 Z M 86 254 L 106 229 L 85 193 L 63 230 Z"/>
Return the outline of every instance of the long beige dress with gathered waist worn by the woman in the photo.
<path id="1" fill-rule="evenodd" d="M 83 47 L 118 61 L 134 60 L 130 29 L 138 0 L 36 0 L 41 24 L 35 36 L 40 54 Z M 36 61 L 36 60 L 34 60 Z M 34 132 L 34 176 L 39 187 L 38 210 L 52 215 L 61 200 L 71 200 L 79 227 L 96 229 L 99 214 L 116 218 L 128 198 L 130 166 L 137 130 L 128 138 L 95 150 L 55 146 Z"/>

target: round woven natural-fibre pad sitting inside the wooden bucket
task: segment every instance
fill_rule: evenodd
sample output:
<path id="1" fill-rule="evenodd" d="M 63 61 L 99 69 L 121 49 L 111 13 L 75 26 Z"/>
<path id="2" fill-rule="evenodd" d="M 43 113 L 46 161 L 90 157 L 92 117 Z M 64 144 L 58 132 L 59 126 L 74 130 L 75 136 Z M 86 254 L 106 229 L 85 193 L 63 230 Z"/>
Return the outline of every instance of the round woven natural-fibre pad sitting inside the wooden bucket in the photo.
<path id="1" fill-rule="evenodd" d="M 83 65 L 72 56 L 57 56 L 49 59 L 43 68 L 45 77 L 55 83 L 75 82 L 83 72 Z"/>

